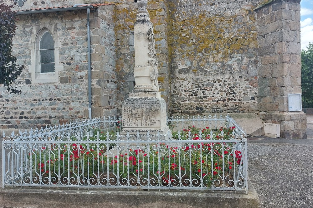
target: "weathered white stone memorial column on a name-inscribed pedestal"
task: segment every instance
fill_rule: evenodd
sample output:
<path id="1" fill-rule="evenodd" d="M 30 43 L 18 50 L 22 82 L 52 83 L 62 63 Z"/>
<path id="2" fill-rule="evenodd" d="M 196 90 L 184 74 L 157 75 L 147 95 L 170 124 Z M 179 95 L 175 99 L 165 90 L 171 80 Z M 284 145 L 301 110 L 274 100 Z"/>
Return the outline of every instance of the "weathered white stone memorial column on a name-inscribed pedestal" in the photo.
<path id="1" fill-rule="evenodd" d="M 139 0 L 138 6 L 134 24 L 136 85 L 122 104 L 123 131 L 168 133 L 166 103 L 159 92 L 153 24 L 146 9 L 147 0 Z"/>

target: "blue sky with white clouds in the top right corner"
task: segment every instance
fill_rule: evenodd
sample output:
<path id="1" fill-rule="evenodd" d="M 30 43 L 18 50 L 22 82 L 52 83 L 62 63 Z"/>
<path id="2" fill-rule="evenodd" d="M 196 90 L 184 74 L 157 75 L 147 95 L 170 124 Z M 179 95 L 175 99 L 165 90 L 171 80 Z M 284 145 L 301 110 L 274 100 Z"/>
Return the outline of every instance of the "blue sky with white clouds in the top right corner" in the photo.
<path id="1" fill-rule="evenodd" d="M 313 0 L 301 0 L 301 49 L 313 43 Z"/>

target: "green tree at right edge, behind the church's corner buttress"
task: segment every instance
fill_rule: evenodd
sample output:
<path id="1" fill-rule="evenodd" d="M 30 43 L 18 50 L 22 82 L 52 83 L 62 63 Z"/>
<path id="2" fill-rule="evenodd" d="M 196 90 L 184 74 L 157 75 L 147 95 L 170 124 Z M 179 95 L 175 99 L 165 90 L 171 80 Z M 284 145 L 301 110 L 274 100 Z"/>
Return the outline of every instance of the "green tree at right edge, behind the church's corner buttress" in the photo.
<path id="1" fill-rule="evenodd" d="M 301 51 L 301 82 L 302 101 L 306 97 L 306 107 L 313 108 L 313 43 L 309 43 L 307 49 Z"/>

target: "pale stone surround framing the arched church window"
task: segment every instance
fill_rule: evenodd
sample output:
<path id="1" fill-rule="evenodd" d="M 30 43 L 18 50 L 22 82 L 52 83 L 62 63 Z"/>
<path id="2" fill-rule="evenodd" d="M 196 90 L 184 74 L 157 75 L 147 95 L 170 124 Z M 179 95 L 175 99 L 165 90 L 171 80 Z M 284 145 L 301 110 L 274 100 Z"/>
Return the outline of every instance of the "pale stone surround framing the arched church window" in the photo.
<path id="1" fill-rule="evenodd" d="M 54 40 L 54 72 L 41 73 L 40 72 L 40 51 L 39 44 L 41 37 L 45 32 L 49 32 Z M 31 53 L 32 61 L 29 67 L 29 72 L 32 76 L 32 83 L 55 83 L 59 82 L 59 71 L 63 70 L 63 65 L 59 63 L 59 41 L 56 27 L 51 24 L 40 25 L 33 27 Z"/>

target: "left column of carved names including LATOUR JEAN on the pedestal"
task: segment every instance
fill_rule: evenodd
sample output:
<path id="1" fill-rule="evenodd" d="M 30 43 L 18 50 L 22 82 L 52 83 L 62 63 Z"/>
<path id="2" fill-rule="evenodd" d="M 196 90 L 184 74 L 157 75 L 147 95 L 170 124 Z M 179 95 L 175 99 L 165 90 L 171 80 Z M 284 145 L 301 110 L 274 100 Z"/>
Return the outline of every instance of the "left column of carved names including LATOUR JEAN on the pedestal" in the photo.
<path id="1" fill-rule="evenodd" d="M 123 127 L 141 126 L 141 105 L 131 104 L 123 105 Z"/>

